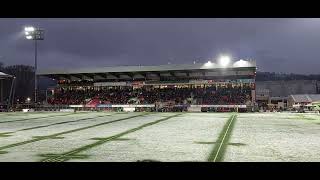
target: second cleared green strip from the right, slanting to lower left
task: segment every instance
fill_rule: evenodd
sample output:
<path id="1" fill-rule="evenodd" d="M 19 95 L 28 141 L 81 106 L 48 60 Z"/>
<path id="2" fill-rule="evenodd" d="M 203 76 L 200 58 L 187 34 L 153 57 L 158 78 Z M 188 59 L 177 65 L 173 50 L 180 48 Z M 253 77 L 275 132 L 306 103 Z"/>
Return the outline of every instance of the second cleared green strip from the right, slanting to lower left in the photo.
<path id="1" fill-rule="evenodd" d="M 77 149 L 74 149 L 74 150 L 71 150 L 69 152 L 65 152 L 63 154 L 56 154 L 56 156 L 54 156 L 54 154 L 50 154 L 51 157 L 48 157 L 48 158 L 45 158 L 43 159 L 41 162 L 61 162 L 61 161 L 67 161 L 67 160 L 70 160 L 72 159 L 73 157 L 76 157 L 77 156 L 77 153 L 80 153 L 82 151 L 85 151 L 85 150 L 88 150 L 88 149 L 91 149 L 95 146 L 99 146 L 101 144 L 104 144 L 108 141 L 111 141 L 111 140 L 114 140 L 114 139 L 117 139 L 121 136 L 124 136 L 124 135 L 127 135 L 129 133 L 132 133 L 132 132 L 136 132 L 138 130 L 141 130 L 142 128 L 144 127 L 148 127 L 148 126 L 152 126 L 154 124 L 157 124 L 157 123 L 160 123 L 160 122 L 163 122 L 163 121 L 166 121 L 166 120 L 169 120 L 171 118 L 174 118 L 174 117 L 177 117 L 177 116 L 180 116 L 181 114 L 175 114 L 173 116 L 168 116 L 168 117 L 165 117 L 165 118 L 161 118 L 159 120 L 156 120 L 156 121 L 152 121 L 152 122 L 149 122 L 149 123 L 146 123 L 146 124 L 143 124 L 143 125 L 140 125 L 136 128 L 132 128 L 132 129 L 129 129 L 127 131 L 124 131 L 122 133 L 118 133 L 116 135 L 112 135 L 112 136 L 109 136 L 107 138 L 101 138 L 101 140 L 98 140 L 97 142 L 95 143 L 92 143 L 92 144 L 88 144 L 88 145 L 85 145 L 85 146 L 82 146 L 82 147 L 79 147 Z M 46 156 L 46 155 L 42 155 L 42 156 Z M 85 155 L 84 155 L 85 156 Z"/>

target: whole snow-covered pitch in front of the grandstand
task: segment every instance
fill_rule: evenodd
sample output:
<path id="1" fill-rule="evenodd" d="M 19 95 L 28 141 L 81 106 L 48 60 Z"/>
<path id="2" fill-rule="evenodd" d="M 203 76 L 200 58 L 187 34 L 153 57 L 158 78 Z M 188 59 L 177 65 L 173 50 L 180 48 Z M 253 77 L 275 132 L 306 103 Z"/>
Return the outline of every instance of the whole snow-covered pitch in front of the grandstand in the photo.
<path id="1" fill-rule="evenodd" d="M 177 114 L 181 115 L 175 117 Z M 61 155 L 88 145 L 93 146 L 73 154 L 73 157 L 83 155 L 82 159 L 69 161 L 207 161 L 230 116 L 230 113 L 0 113 L 0 161 L 41 161 L 45 157 L 40 155 Z M 18 121 L 21 119 L 26 120 Z M 320 161 L 319 114 L 239 113 L 230 133 L 223 161 Z M 116 139 L 95 145 L 99 138 L 119 134 Z"/>

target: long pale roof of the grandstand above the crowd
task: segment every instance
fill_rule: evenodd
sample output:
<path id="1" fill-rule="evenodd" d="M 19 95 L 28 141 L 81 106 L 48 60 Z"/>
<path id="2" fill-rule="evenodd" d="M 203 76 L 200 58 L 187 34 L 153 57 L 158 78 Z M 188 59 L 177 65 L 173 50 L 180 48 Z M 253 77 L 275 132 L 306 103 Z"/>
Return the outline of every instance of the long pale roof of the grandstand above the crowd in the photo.
<path id="1" fill-rule="evenodd" d="M 256 71 L 255 61 L 236 61 L 229 66 L 222 67 L 216 63 L 205 64 L 181 64 L 159 66 L 110 66 L 97 68 L 64 68 L 38 70 L 37 75 L 47 76 L 54 79 L 139 79 L 173 76 L 238 76 L 253 75 Z M 200 73 L 197 75 L 196 73 Z M 207 74 L 206 74 L 207 73 Z"/>

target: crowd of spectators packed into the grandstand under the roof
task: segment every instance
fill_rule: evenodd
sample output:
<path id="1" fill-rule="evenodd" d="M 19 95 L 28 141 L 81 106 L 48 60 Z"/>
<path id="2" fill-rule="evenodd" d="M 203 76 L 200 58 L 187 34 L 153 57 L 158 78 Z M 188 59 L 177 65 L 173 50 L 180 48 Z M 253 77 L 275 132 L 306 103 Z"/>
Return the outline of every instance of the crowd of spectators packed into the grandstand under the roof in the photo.
<path id="1" fill-rule="evenodd" d="M 57 89 L 48 99 L 50 104 L 154 104 L 174 102 L 175 104 L 245 104 L 251 100 L 250 87 L 196 87 L 196 88 L 137 88 L 66 90 Z"/>

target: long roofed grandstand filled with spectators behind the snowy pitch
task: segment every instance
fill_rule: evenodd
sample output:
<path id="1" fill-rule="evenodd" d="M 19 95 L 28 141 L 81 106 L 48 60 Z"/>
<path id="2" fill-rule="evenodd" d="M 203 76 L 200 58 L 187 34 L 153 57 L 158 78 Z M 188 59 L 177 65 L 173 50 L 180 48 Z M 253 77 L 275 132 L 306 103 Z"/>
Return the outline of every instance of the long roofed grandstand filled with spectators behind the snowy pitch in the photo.
<path id="1" fill-rule="evenodd" d="M 255 61 L 38 70 L 57 80 L 48 106 L 125 111 L 238 111 L 255 104 Z"/>

